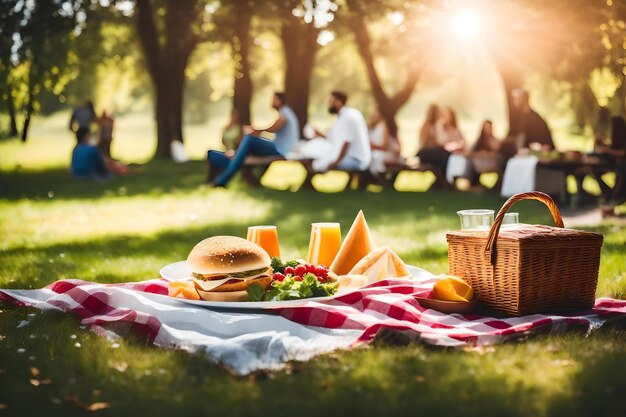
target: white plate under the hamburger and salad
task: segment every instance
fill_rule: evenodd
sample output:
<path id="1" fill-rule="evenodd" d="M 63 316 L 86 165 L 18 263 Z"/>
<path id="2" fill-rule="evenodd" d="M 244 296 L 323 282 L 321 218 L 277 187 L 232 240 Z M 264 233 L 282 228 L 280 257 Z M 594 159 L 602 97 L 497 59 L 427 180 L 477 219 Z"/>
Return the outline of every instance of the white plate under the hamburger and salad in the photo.
<path id="1" fill-rule="evenodd" d="M 432 274 L 428 271 L 425 271 L 421 268 L 417 268 L 415 266 L 407 265 L 407 269 L 411 273 L 413 279 L 417 281 L 422 281 L 424 279 L 432 277 Z M 181 281 L 185 279 L 192 278 L 192 271 L 187 266 L 187 261 L 179 261 L 174 262 L 173 264 L 169 264 L 164 266 L 160 274 L 163 278 L 169 279 L 171 281 Z M 356 288 L 346 288 L 343 291 L 339 290 L 337 294 L 331 295 L 329 297 L 312 297 L 305 298 L 302 300 L 288 300 L 288 301 L 248 301 L 248 302 L 229 302 L 229 301 L 204 301 L 204 300 L 187 300 L 186 298 L 176 298 L 176 300 L 183 302 L 185 304 L 193 304 L 200 307 L 206 308 L 226 308 L 226 309 L 245 309 L 245 310 L 258 310 L 258 309 L 273 309 L 273 308 L 281 308 L 281 307 L 297 307 L 306 305 L 309 302 L 324 302 L 330 301 L 339 295 L 343 295 L 349 293 L 350 291 L 355 290 Z"/>

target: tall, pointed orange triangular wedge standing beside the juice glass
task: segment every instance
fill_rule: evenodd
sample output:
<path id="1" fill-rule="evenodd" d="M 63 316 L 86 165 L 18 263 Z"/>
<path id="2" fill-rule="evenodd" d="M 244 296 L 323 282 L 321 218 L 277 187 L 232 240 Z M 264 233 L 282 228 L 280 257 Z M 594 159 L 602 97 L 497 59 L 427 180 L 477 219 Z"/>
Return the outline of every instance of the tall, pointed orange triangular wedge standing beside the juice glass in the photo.
<path id="1" fill-rule="evenodd" d="M 337 275 L 346 275 L 363 257 L 372 251 L 374 243 L 363 211 L 356 215 L 330 271 Z"/>

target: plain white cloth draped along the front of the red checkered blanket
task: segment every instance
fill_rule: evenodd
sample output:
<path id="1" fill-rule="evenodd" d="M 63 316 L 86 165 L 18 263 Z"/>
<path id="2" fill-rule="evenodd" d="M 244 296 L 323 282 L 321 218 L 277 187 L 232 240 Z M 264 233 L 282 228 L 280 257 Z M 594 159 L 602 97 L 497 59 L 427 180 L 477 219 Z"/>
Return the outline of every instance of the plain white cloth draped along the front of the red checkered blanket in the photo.
<path id="1" fill-rule="evenodd" d="M 280 369 L 287 361 L 306 361 L 322 353 L 346 349 L 362 333 L 362 330 L 305 326 L 254 310 L 209 310 L 167 296 L 94 285 L 99 287 L 99 292 L 107 292 L 111 307 L 157 318 L 161 327 L 154 340 L 156 345 L 204 352 L 240 375 L 258 369 Z M 50 309 L 51 303 L 76 304 L 67 295 L 45 288 L 5 292 L 41 309 Z"/>

